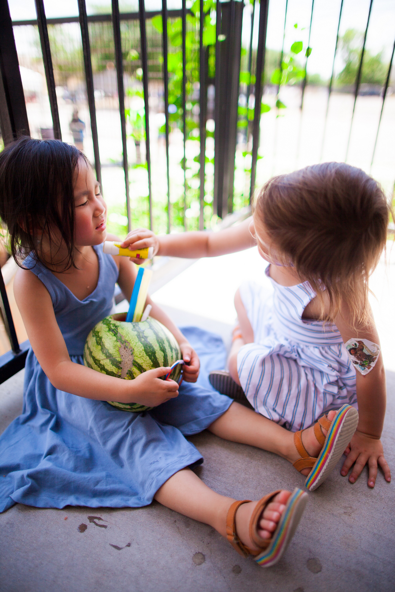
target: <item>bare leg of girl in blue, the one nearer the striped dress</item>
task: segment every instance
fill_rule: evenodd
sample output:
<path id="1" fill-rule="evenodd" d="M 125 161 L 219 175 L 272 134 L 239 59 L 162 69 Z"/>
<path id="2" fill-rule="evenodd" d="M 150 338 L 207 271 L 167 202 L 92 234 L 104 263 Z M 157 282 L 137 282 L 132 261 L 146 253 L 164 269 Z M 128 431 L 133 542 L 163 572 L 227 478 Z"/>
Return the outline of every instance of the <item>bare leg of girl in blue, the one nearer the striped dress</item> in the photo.
<path id="1" fill-rule="evenodd" d="M 335 415 L 336 411 L 329 411 L 329 421 Z M 207 429 L 224 440 L 256 446 L 256 448 L 274 452 L 290 462 L 299 458 L 294 445 L 293 432 L 289 432 L 267 417 L 236 403 L 236 401 Z M 327 430 L 323 430 L 323 433 L 326 435 Z M 313 426 L 304 430 L 302 440 L 309 455 L 316 458 L 322 446 L 314 436 Z M 301 474 L 308 475 L 310 471 L 311 469 L 303 469 Z"/>

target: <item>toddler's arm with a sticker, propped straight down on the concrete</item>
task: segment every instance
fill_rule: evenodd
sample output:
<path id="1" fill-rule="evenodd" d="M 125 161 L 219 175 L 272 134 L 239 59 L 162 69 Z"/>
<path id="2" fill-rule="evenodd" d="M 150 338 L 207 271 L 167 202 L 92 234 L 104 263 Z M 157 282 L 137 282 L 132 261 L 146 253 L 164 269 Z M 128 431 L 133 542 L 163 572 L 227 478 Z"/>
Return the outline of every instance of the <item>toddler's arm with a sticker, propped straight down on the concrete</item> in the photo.
<path id="1" fill-rule="evenodd" d="M 351 328 L 346 305 L 342 307 L 341 313 L 336 317 L 336 326 L 344 343 L 347 343 L 349 339 L 353 339 L 355 342 L 365 339 L 380 346 L 377 329 L 373 322 L 368 327 Z M 354 464 L 349 476 L 349 481 L 354 483 L 367 464 L 368 485 L 374 487 L 378 466 L 383 470 L 386 481 L 391 481 L 390 467 L 384 458 L 383 445 L 380 440 L 386 413 L 386 374 L 382 353 L 379 354 L 377 362 L 368 374 L 362 375 L 358 369 L 356 373 L 359 422 L 357 431 L 345 451 L 347 458 L 341 474 L 347 475 Z"/>

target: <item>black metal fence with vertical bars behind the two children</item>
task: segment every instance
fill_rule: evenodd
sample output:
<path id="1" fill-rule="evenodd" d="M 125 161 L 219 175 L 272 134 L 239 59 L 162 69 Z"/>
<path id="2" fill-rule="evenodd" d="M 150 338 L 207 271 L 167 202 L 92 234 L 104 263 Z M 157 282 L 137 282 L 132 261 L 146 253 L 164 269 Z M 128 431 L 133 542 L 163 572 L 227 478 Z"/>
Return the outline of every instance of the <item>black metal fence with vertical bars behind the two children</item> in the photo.
<path id="1" fill-rule="evenodd" d="M 185 146 L 188 139 L 188 122 L 187 122 L 187 105 L 191 98 L 191 94 L 187 94 L 188 86 L 188 71 L 187 71 L 187 34 L 188 34 L 188 15 L 191 15 L 191 9 L 187 9 L 186 0 L 182 0 L 182 8 L 180 10 L 169 10 L 167 8 L 166 0 L 162 0 L 162 11 L 146 12 L 144 7 L 144 0 L 139 0 L 139 12 L 129 12 L 120 14 L 118 7 L 118 0 L 111 1 L 111 14 L 94 14 L 87 15 L 85 0 L 78 0 L 78 17 L 67 18 L 46 18 L 43 0 L 34 0 L 36 5 L 37 18 L 34 20 L 25 21 L 11 21 L 9 7 L 7 0 L 0 0 L 0 127 L 4 143 L 17 138 L 18 136 L 27 134 L 30 135 L 27 110 L 25 107 L 25 98 L 23 85 L 21 82 L 20 70 L 18 67 L 18 55 L 15 47 L 15 40 L 12 27 L 23 27 L 25 25 L 34 25 L 38 28 L 40 37 L 40 47 L 43 56 L 44 72 L 46 76 L 46 85 L 50 102 L 50 111 L 52 114 L 53 123 L 53 137 L 62 139 L 62 131 L 60 128 L 59 110 L 56 95 L 56 84 L 53 69 L 53 56 L 50 48 L 49 26 L 59 25 L 65 23 L 79 23 L 81 28 L 81 41 L 83 63 L 85 70 L 86 82 L 86 98 L 89 107 L 89 115 L 91 122 L 92 144 L 94 152 L 94 166 L 99 182 L 101 182 L 101 160 L 99 154 L 99 134 L 96 116 L 96 102 L 95 102 L 95 85 L 94 85 L 94 70 L 92 69 L 92 59 L 95 58 L 92 53 L 91 43 L 92 37 L 90 27 L 104 26 L 107 28 L 112 25 L 112 43 L 114 45 L 114 61 L 117 75 L 117 95 L 119 102 L 119 114 L 121 124 L 121 141 L 123 149 L 122 166 L 124 170 L 124 180 L 126 189 L 126 211 L 128 218 L 128 226 L 131 229 L 131 211 L 130 211 L 130 195 L 129 195 L 129 167 L 127 156 L 127 121 L 125 110 L 125 89 L 124 89 L 124 72 L 127 67 L 126 48 L 123 46 L 122 27 L 126 22 L 133 22 L 135 33 L 139 37 L 136 41 L 138 46 L 139 59 L 136 61 L 136 66 L 141 67 L 142 70 L 142 89 L 145 112 L 145 130 L 144 139 L 146 144 L 146 169 L 148 181 L 148 204 L 149 204 L 149 223 L 153 227 L 153 200 L 152 200 L 152 162 L 150 151 L 150 122 L 149 122 L 149 84 L 152 82 L 152 55 L 150 54 L 149 43 L 147 42 L 147 26 L 155 17 L 162 19 L 162 57 L 163 64 L 159 67 L 156 76 L 163 81 L 163 99 L 165 112 L 165 146 L 166 146 L 166 165 L 167 165 L 167 229 L 171 230 L 171 175 L 169 174 L 169 128 L 170 128 L 170 113 L 169 113 L 169 67 L 168 59 L 171 55 L 169 49 L 169 27 L 172 27 L 172 22 L 175 19 L 181 19 L 180 31 L 180 63 L 182 59 L 182 76 L 179 82 L 179 99 L 180 110 L 182 113 L 181 130 L 183 135 L 184 159 L 182 168 L 184 169 L 184 220 L 185 207 L 187 197 L 187 176 L 186 176 L 186 151 Z M 373 0 L 370 0 L 368 11 L 368 18 L 364 32 L 364 42 L 359 54 L 359 62 L 357 75 L 354 81 L 354 108 L 352 111 L 351 123 L 348 136 L 348 147 L 351 137 L 352 124 L 354 120 L 355 104 L 361 88 L 361 73 L 364 64 L 365 43 L 367 40 L 367 31 L 371 18 Z M 235 152 L 236 152 L 236 137 L 240 132 L 240 118 L 245 117 L 245 127 L 241 126 L 243 133 L 246 136 L 246 144 L 251 146 L 251 173 L 249 177 L 249 198 L 251 200 L 255 190 L 255 176 L 256 163 L 258 160 L 259 148 L 259 128 L 261 123 L 261 103 L 262 92 L 264 90 L 264 69 L 265 69 L 265 46 L 266 46 L 266 28 L 268 24 L 268 8 L 269 0 L 253 0 L 251 8 L 251 33 L 249 38 L 249 47 L 246 56 L 242 57 L 242 18 L 243 18 L 243 2 L 236 0 L 229 0 L 227 2 L 218 2 L 216 4 L 216 24 L 215 36 L 210 42 L 205 41 L 205 3 L 199 0 L 197 11 L 195 2 L 195 17 L 198 23 L 194 34 L 197 41 L 196 53 L 198 56 L 198 95 L 195 96 L 195 101 L 198 103 L 198 139 L 200 141 L 200 156 L 198 157 L 199 169 L 199 201 L 200 201 L 200 215 L 199 227 L 204 228 L 204 184 L 205 184 L 205 163 L 207 157 L 205 156 L 206 143 L 206 123 L 208 115 L 214 118 L 214 143 L 215 143 L 215 157 L 214 157 L 214 191 L 213 191 L 213 210 L 220 218 L 233 210 L 233 177 L 235 173 Z M 288 0 L 285 2 L 285 18 L 284 18 L 284 36 L 285 24 L 287 22 Z M 339 12 L 339 26 L 336 38 L 335 54 L 333 56 L 332 76 L 328 85 L 327 106 L 329 107 L 330 96 L 333 92 L 335 58 L 339 52 L 339 27 L 342 18 L 343 0 L 340 4 Z M 259 18 L 255 18 L 256 12 L 259 12 Z M 303 75 L 298 84 L 301 89 L 300 112 L 303 110 L 304 93 L 306 85 L 309 83 L 307 76 L 307 62 L 310 56 L 310 33 L 311 22 L 314 14 L 314 0 L 311 1 L 311 16 L 309 28 L 309 43 L 304 58 Z M 258 25 L 258 31 L 254 31 L 254 27 Z M 258 33 L 258 34 L 256 34 Z M 257 38 L 257 46 L 253 43 L 253 37 Z M 256 49 L 254 49 L 256 47 Z M 378 121 L 376 141 L 372 150 L 372 159 L 377 144 L 378 130 L 381 123 L 381 115 L 383 114 L 384 102 L 386 101 L 387 89 L 390 84 L 391 68 L 393 65 L 395 43 L 391 55 L 391 60 L 387 69 L 386 82 L 382 92 L 382 105 L 380 120 Z M 181 58 L 182 54 L 182 58 Z M 247 79 L 242 82 L 240 79 L 240 60 L 244 60 L 243 70 L 246 70 Z M 277 102 L 279 102 L 279 91 L 281 84 L 281 75 L 284 69 L 284 45 L 279 52 L 278 69 L 280 70 L 280 78 L 278 79 L 277 88 Z M 213 67 L 214 63 L 214 67 Z M 214 106 L 210 104 L 210 88 L 214 89 Z M 196 89 L 194 90 L 194 92 Z M 195 92 L 196 95 L 196 92 Z M 213 93 L 211 93 L 213 95 Z M 210 96 L 211 96 L 210 95 Z M 247 105 L 245 108 L 246 115 L 243 115 L 243 109 L 240 111 L 240 97 L 244 97 Z M 251 100 L 252 99 L 252 100 Z M 212 101 L 211 101 L 212 102 Z M 252 107 L 250 107 L 252 105 Z M 252 116 L 250 114 L 252 111 Z M 242 112 L 242 115 L 240 115 Z M 326 109 L 325 127 L 323 133 L 322 144 L 325 141 L 326 120 L 328 116 L 328 108 Z M 347 152 L 348 152 L 347 147 Z M 347 154 L 346 154 L 347 157 Z M 1 291 L 1 311 L 4 318 L 5 328 L 7 330 L 9 340 L 11 343 L 11 352 L 0 357 L 0 382 L 7 379 L 14 374 L 18 369 L 23 368 L 24 359 L 28 347 L 25 342 L 18 345 L 18 340 L 15 334 L 14 323 L 12 321 L 11 311 L 9 309 L 7 294 L 4 287 L 4 282 L 0 274 L 0 291 Z"/>

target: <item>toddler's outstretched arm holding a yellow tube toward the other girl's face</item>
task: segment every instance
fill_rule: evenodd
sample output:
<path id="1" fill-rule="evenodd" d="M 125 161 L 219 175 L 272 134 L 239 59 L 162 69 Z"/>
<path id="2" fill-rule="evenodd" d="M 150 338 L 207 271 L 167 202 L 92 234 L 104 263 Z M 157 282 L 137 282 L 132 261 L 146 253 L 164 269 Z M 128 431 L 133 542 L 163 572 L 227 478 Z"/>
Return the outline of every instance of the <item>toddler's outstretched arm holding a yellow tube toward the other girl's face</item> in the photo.
<path id="1" fill-rule="evenodd" d="M 218 232 L 185 232 L 179 234 L 162 234 L 155 236 L 147 229 L 132 230 L 122 243 L 123 247 L 131 245 L 131 249 L 153 247 L 154 255 L 172 257 L 199 258 L 217 257 L 226 253 L 236 253 L 255 246 L 255 239 L 248 229 L 252 218 L 249 217 L 237 226 Z M 139 259 L 133 259 L 141 263 Z"/>

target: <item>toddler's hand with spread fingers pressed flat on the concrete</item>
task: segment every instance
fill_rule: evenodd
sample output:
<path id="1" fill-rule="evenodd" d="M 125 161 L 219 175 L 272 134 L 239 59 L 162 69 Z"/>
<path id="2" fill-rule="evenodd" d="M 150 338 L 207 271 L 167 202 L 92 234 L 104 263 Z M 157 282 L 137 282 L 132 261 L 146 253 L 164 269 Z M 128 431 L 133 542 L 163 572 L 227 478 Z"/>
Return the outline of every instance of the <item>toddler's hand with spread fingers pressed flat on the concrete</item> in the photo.
<path id="1" fill-rule="evenodd" d="M 377 465 L 381 466 L 384 472 L 384 478 L 388 483 L 391 481 L 390 467 L 384 458 L 383 445 L 381 440 L 364 434 L 362 432 L 355 432 L 352 440 L 344 451 L 347 456 L 341 470 L 341 474 L 345 476 L 351 466 L 355 463 L 352 469 L 349 481 L 354 483 L 357 481 L 365 464 L 368 464 L 369 475 L 368 485 L 374 487 L 377 477 Z"/>

